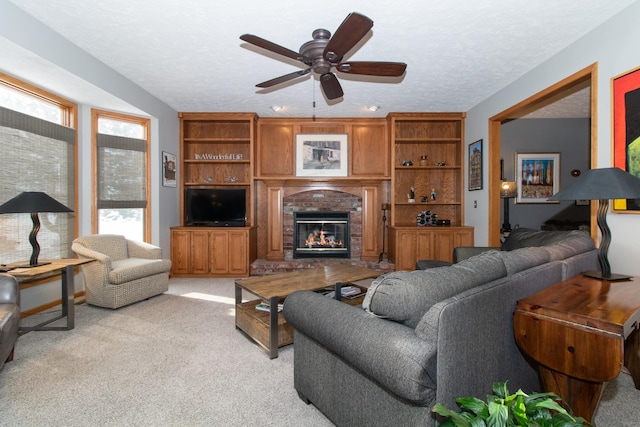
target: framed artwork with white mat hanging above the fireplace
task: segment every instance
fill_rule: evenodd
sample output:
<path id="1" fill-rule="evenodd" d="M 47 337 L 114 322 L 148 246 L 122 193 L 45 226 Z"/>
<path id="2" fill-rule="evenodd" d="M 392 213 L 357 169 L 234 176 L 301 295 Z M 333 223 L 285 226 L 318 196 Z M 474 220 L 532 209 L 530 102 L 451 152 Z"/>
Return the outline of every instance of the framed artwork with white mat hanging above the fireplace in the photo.
<path id="1" fill-rule="evenodd" d="M 297 134 L 296 176 L 347 176 L 347 134 Z"/>

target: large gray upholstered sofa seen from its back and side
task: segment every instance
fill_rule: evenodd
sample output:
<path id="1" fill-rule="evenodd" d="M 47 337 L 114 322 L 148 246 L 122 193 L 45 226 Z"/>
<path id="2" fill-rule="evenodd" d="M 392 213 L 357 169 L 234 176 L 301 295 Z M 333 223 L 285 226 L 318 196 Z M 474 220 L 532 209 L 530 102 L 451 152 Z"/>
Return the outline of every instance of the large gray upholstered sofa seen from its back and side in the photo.
<path id="1" fill-rule="evenodd" d="M 338 426 L 435 425 L 437 402 L 484 398 L 496 381 L 539 391 L 513 338 L 516 302 L 584 270 L 582 231 L 516 230 L 509 250 L 377 278 L 362 307 L 308 291 L 284 303 L 294 328 L 294 387 Z"/>

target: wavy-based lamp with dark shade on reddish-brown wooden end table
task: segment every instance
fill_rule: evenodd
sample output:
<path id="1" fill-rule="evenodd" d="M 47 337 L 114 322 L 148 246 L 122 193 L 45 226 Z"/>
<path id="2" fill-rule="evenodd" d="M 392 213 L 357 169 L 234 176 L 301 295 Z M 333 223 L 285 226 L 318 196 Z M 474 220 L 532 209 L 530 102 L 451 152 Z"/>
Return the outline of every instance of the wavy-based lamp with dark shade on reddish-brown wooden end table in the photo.
<path id="1" fill-rule="evenodd" d="M 596 220 L 602 234 L 598 260 L 602 271 L 585 271 L 582 274 L 603 280 L 625 280 L 631 276 L 612 274 L 607 258 L 611 243 L 611 230 L 607 225 L 609 199 L 640 199 L 640 179 L 620 168 L 590 169 L 549 198 L 554 201 L 598 200 Z"/>

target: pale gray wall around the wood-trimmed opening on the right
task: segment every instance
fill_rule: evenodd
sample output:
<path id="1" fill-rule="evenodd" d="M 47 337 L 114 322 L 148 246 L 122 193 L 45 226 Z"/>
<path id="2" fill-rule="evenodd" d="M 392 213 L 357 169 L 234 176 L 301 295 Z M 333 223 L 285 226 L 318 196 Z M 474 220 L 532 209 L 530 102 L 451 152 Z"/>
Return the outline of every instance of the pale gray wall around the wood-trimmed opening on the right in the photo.
<path id="1" fill-rule="evenodd" d="M 483 138 L 488 147 L 489 118 L 524 99 L 552 86 L 571 74 L 598 63 L 597 109 L 597 167 L 610 167 L 611 157 L 611 78 L 640 65 L 640 3 L 635 3 L 619 15 L 605 22 L 577 42 L 539 65 L 520 79 L 481 102 L 467 113 L 465 139 L 467 144 Z M 487 149 L 487 148 L 485 148 Z M 488 154 L 484 156 L 484 182 L 488 182 Z M 466 182 L 466 179 L 465 179 Z M 474 200 L 478 208 L 473 208 Z M 477 245 L 488 242 L 488 190 L 465 193 L 465 222 L 473 225 Z M 612 242 L 609 248 L 611 270 L 640 276 L 640 215 L 609 214 Z"/>

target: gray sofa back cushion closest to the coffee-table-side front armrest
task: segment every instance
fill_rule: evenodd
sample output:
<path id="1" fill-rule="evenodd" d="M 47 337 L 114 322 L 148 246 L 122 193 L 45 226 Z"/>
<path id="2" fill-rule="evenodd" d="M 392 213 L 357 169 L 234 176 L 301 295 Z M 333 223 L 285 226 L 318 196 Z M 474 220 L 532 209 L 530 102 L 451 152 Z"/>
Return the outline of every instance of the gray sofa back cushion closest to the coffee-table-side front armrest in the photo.
<path id="1" fill-rule="evenodd" d="M 500 252 L 488 251 L 450 267 L 382 275 L 369 287 L 362 306 L 376 316 L 415 328 L 432 305 L 506 275 Z"/>

